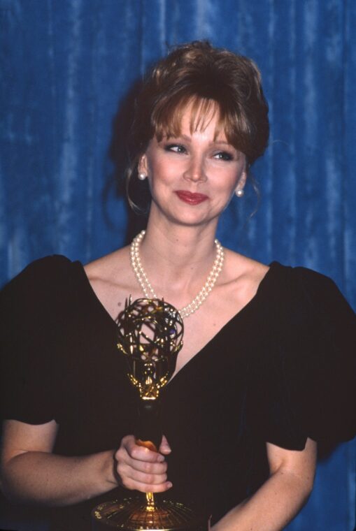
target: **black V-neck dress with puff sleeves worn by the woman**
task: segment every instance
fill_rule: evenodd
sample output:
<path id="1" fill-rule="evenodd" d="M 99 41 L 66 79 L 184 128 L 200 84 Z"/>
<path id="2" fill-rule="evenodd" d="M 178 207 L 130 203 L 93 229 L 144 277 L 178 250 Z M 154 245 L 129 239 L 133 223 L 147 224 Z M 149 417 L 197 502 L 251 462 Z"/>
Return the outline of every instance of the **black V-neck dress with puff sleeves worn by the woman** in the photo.
<path id="1" fill-rule="evenodd" d="M 55 419 L 62 456 L 118 448 L 134 430 L 136 390 L 81 263 L 31 263 L 3 289 L 1 314 L 3 418 Z M 162 393 L 164 497 L 218 521 L 268 477 L 266 442 L 301 450 L 307 437 L 355 435 L 355 380 L 356 317 L 334 282 L 271 263 L 250 303 Z M 127 494 L 52 509 L 53 529 L 88 529 L 92 507 Z"/>

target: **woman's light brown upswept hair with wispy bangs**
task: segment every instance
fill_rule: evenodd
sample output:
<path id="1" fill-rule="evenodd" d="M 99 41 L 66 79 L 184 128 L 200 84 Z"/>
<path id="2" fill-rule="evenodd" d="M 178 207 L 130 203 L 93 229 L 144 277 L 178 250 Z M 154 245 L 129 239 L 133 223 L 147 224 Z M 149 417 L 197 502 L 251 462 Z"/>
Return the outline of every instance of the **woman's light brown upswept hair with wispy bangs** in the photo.
<path id="1" fill-rule="evenodd" d="M 128 180 L 151 138 L 179 136 L 188 104 L 192 106 L 192 132 L 204 129 L 204 119 L 217 106 L 215 134 L 224 131 L 249 165 L 264 153 L 269 138 L 268 104 L 257 66 L 207 41 L 194 41 L 175 48 L 143 81 L 129 138 Z"/>

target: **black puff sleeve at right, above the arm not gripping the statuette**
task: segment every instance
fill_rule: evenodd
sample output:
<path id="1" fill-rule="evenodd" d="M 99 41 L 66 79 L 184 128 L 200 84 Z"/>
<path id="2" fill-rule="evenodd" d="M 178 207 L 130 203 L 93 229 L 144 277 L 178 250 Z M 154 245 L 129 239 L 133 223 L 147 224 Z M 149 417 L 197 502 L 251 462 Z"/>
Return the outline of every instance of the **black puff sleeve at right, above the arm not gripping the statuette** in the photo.
<path id="1" fill-rule="evenodd" d="M 356 316 L 336 284 L 306 268 L 275 263 L 255 361 L 254 423 L 259 437 L 303 449 L 356 435 Z M 276 275 L 276 270 L 278 274 Z"/>

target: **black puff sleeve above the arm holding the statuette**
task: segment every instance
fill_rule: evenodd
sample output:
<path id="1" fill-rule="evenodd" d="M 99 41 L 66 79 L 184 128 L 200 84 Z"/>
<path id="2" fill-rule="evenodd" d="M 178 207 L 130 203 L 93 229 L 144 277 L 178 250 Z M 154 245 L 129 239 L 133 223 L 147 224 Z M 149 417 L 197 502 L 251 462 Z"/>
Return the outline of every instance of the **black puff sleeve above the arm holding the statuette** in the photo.
<path id="1" fill-rule="evenodd" d="M 56 417 L 56 365 L 51 353 L 66 320 L 70 261 L 31 263 L 0 294 L 1 417 L 41 424 Z"/>

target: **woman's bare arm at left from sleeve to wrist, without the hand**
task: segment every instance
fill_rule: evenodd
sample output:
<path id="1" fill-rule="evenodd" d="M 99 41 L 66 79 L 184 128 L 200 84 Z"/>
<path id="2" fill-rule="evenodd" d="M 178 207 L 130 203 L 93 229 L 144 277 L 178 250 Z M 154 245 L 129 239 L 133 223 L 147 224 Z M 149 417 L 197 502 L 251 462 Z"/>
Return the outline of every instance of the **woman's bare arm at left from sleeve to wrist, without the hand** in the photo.
<path id="1" fill-rule="evenodd" d="M 84 457 L 51 453 L 57 424 L 3 423 L 1 490 L 20 503 L 66 505 L 81 502 L 117 486 L 113 451 Z"/>

